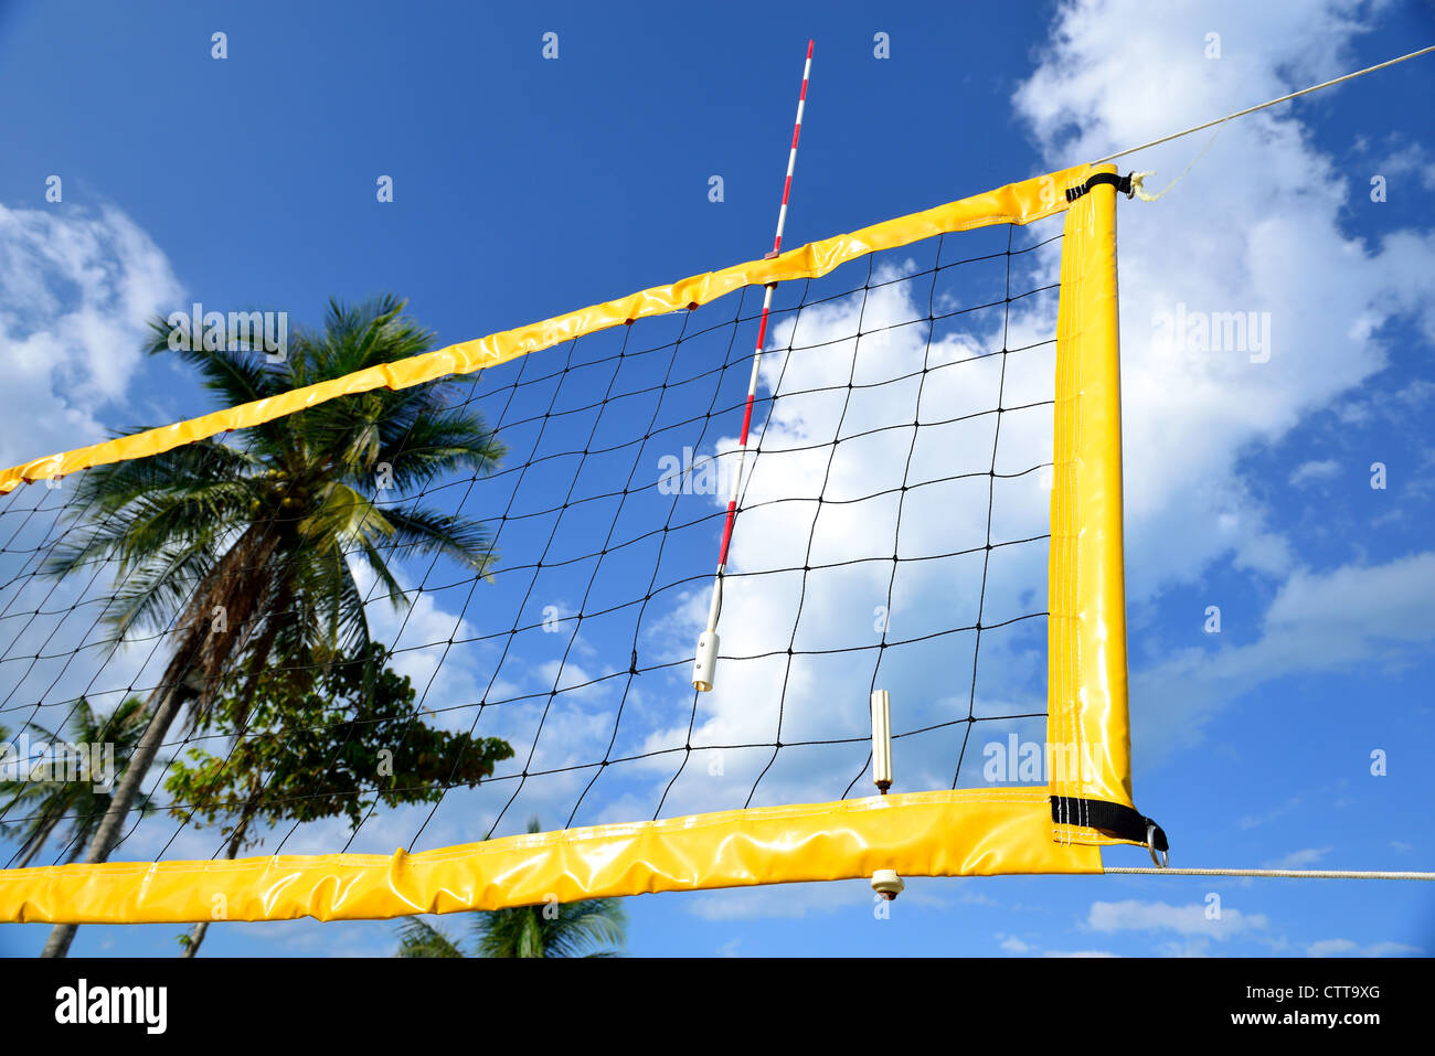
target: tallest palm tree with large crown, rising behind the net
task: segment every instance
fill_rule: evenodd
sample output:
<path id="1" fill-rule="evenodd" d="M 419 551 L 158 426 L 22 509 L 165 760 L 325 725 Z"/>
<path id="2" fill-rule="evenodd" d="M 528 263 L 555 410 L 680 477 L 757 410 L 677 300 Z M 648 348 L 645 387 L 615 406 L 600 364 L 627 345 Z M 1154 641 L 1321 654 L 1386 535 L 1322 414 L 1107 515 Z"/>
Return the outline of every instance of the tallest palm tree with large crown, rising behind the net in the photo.
<path id="1" fill-rule="evenodd" d="M 171 349 L 161 321 L 152 324 L 149 352 L 178 354 L 232 406 L 428 352 L 433 336 L 402 311 L 393 297 L 330 301 L 323 330 L 297 330 L 278 364 L 198 340 Z M 367 644 L 350 555 L 397 607 L 406 597 L 380 545 L 446 554 L 486 574 L 494 547 L 481 522 L 418 502 L 380 505 L 387 488 L 413 494 L 439 473 L 497 466 L 502 445 L 478 412 L 451 406 L 452 380 L 342 396 L 253 426 L 243 449 L 211 438 L 80 476 L 70 508 L 83 519 L 46 571 L 67 575 L 115 561 L 106 618 L 118 634 L 149 627 L 174 636 L 169 664 L 146 700 L 149 723 L 86 862 L 109 857 L 181 710 L 188 706 L 198 722 L 225 684 L 238 682 L 253 697 L 265 664 L 303 679 Z M 235 722 L 243 726 L 243 707 Z M 57 925 L 43 956 L 63 957 L 73 934 L 75 925 Z"/>

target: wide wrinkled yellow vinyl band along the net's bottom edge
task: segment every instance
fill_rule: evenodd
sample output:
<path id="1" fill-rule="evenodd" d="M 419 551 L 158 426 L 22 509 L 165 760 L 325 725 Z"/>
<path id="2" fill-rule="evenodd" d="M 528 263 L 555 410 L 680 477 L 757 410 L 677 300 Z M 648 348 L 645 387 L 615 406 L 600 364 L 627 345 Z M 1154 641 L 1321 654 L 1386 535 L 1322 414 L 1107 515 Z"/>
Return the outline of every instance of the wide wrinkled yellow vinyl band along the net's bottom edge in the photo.
<path id="1" fill-rule="evenodd" d="M 393 855 L 108 862 L 0 871 L 0 921 L 375 920 L 653 891 L 994 874 L 1095 874 L 1048 838 L 1045 788 L 913 792 L 598 825 Z M 222 902 L 220 898 L 222 897 Z"/>

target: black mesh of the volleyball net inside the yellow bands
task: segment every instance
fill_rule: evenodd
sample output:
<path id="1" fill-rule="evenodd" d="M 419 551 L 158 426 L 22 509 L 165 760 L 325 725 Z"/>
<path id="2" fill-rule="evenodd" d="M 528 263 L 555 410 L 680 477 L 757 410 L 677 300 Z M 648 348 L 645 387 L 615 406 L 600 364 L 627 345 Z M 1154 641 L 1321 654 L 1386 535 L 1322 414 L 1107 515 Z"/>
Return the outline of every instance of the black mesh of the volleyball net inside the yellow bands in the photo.
<path id="1" fill-rule="evenodd" d="M 488 564 L 403 532 L 336 551 L 336 575 L 350 577 L 363 628 L 385 647 L 347 696 L 320 679 L 331 667 L 317 630 L 270 634 L 255 667 L 278 608 L 296 617 L 286 627 L 331 626 L 313 584 L 288 597 L 255 588 L 222 631 L 235 643 L 224 686 L 207 706 L 191 687 L 145 779 L 149 809 L 131 814 L 112 857 L 232 852 L 241 822 L 238 844 L 265 852 L 387 852 L 507 835 L 530 818 L 561 828 L 871 795 L 874 687 L 893 699 L 897 791 L 1033 779 L 1013 749 L 1045 740 L 1059 225 L 946 235 L 776 290 L 710 693 L 689 679 L 762 290 L 451 383 L 449 410 L 479 412 L 502 443 L 497 466 L 428 475 L 405 462 L 400 436 L 385 442 L 397 458 L 366 498 L 482 522 Z M 245 433 L 191 455 L 234 458 L 240 473 L 276 468 Z M 7 867 L 82 852 L 103 791 L 55 798 L 27 778 L 95 730 L 123 762 L 125 737 L 188 677 L 175 656 L 197 640 L 179 624 L 218 574 L 177 552 L 164 588 L 138 600 L 115 554 L 56 575 L 66 547 L 132 517 L 82 505 L 82 478 L 0 499 L 0 727 L 20 760 L 0 775 Z M 135 494 L 144 486 L 136 476 Z M 268 519 L 329 515 L 304 502 Z M 267 562 L 274 584 L 309 570 L 311 555 L 265 551 L 263 527 L 225 528 L 225 574 Z M 383 667 L 412 699 L 354 704 L 372 700 Z M 248 706 L 221 706 L 258 669 Z M 317 697 L 261 706 L 290 683 Z M 125 702 L 136 702 L 128 725 L 106 732 Z M 512 753 L 475 781 L 491 737 Z M 397 759 L 389 772 L 385 752 Z M 171 783 L 177 763 L 212 778 L 241 756 L 237 798 L 222 782 Z"/>

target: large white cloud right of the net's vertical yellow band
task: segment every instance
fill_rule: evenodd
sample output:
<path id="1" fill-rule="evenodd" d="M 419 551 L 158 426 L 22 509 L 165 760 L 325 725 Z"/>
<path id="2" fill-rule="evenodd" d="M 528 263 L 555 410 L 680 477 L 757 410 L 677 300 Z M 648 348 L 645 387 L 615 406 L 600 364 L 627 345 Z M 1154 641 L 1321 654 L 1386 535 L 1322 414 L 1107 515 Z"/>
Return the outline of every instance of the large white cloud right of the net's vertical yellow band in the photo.
<path id="1" fill-rule="evenodd" d="M 1145 14 L 1135 0 L 1060 9 L 1050 49 L 1015 99 L 1052 166 L 1343 72 L 1362 7 L 1231 1 L 1174 7 L 1159 20 Z M 1213 27 L 1221 29 L 1221 59 L 1205 57 Z M 1171 178 L 1204 142 L 1177 141 L 1121 165 Z M 1287 108 L 1223 126 L 1159 202 L 1122 202 L 1132 603 L 1227 554 L 1284 575 L 1292 557 L 1269 539 L 1270 512 L 1240 476 L 1241 453 L 1279 440 L 1379 372 L 1392 356 L 1375 337 L 1383 321 L 1412 314 L 1426 336 L 1435 333 L 1435 244 L 1411 231 L 1378 245 L 1347 237 L 1342 211 L 1365 189 L 1332 166 Z M 1269 362 L 1178 352 L 1152 324 L 1177 306 L 1269 313 Z"/>

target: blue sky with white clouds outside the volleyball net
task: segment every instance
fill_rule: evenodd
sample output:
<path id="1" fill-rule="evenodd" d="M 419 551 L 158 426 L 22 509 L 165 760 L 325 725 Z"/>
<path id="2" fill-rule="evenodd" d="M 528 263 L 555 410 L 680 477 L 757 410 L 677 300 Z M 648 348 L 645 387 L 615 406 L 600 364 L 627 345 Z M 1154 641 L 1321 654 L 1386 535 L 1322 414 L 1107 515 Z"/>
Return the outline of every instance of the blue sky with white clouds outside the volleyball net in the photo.
<path id="1" fill-rule="evenodd" d="M 228 34 L 222 62 L 210 57 L 215 30 Z M 555 62 L 541 57 L 550 30 Z M 872 55 L 878 32 L 890 59 Z M 1207 57 L 1208 33 L 1220 57 Z M 138 357 L 138 324 L 155 310 L 198 300 L 317 321 L 330 296 L 395 290 L 448 341 L 761 255 L 809 36 L 786 245 L 1413 50 L 1435 42 L 1435 19 L 1419 3 L 1174 4 L 1159 16 L 1121 3 L 878 14 L 729 4 L 667 22 L 636 6 L 347 4 L 336 16 L 319 4 L 6 4 L 0 86 L 27 105 L 0 115 L 0 354 L 16 372 L 0 393 L 0 462 L 204 409 L 178 369 Z M 1422 781 L 1435 765 L 1432 62 L 1224 128 L 1170 195 L 1121 205 L 1135 786 L 1178 864 L 1435 868 Z M 1208 139 L 1122 166 L 1157 169 L 1149 182 L 1165 187 Z M 44 199 L 52 174 L 60 204 Z M 392 204 L 375 201 L 380 174 L 395 179 Z M 709 201 L 712 175 L 722 202 Z M 1376 175 L 1383 202 L 1370 199 Z M 927 251 L 910 257 L 926 267 Z M 1162 344 L 1157 317 L 1178 304 L 1269 313 L 1269 360 Z M 735 310 L 715 306 L 712 319 Z M 743 383 L 732 372 L 723 392 Z M 715 423 L 706 443 L 733 429 Z M 1385 489 L 1370 486 L 1373 462 L 1386 466 Z M 775 471 L 763 486 L 785 481 Z M 690 547 L 703 570 L 709 544 Z M 581 583 L 545 590 L 561 607 Z M 449 601 L 430 595 L 419 613 L 423 641 L 452 631 Z M 1208 605 L 1221 610 L 1220 634 L 1203 630 Z M 601 656 L 618 637 L 585 644 Z M 1019 654 L 1007 654 L 1013 671 Z M 435 703 L 466 699 L 462 677 L 482 680 L 482 661 L 452 667 Z M 1376 749 L 1386 776 L 1370 775 Z M 525 806 L 505 825 L 521 826 Z M 392 849 L 416 828 L 385 826 L 364 849 Z M 482 835 L 456 811 L 435 829 L 443 842 Z M 1138 865 L 1144 854 L 1106 861 Z M 1428 954 L 1435 894 L 1424 888 L 914 880 L 880 921 L 857 881 L 630 900 L 629 946 Z M 1220 920 L 1205 915 L 1211 894 Z M 165 954 L 179 930 L 86 927 L 75 951 Z M 0 951 L 34 953 L 43 937 L 40 925 L 0 928 Z M 207 940 L 208 953 L 245 956 L 392 947 L 382 923 L 231 924 Z"/>

